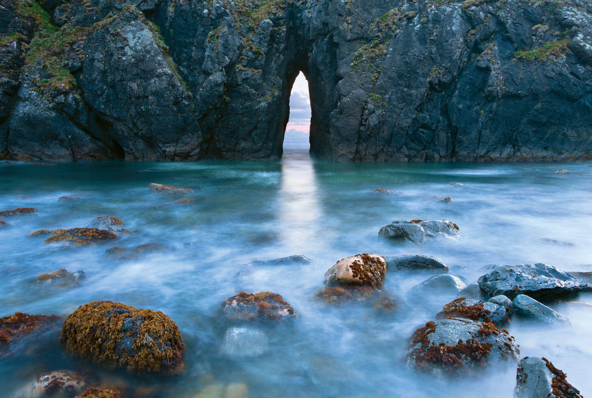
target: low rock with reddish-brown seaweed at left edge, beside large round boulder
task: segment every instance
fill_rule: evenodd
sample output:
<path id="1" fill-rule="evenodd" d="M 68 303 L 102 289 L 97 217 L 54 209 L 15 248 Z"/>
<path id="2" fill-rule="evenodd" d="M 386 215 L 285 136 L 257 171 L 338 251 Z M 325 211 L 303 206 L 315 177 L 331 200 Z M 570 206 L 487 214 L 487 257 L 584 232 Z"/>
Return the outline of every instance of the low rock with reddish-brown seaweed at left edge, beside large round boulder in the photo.
<path id="1" fill-rule="evenodd" d="M 12 345 L 21 339 L 38 336 L 62 327 L 63 317 L 57 315 L 30 315 L 15 312 L 0 318 L 0 357 L 7 355 Z"/>

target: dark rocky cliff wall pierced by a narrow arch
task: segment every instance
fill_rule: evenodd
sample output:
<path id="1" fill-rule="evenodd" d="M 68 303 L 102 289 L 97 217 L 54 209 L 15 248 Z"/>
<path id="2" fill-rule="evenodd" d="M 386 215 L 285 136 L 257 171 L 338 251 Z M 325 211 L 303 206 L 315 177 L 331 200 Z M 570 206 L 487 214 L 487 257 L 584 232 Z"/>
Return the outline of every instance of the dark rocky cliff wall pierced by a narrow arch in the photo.
<path id="1" fill-rule="evenodd" d="M 277 160 L 300 71 L 339 162 L 588 159 L 590 0 L 2 0 L 0 151 Z"/>

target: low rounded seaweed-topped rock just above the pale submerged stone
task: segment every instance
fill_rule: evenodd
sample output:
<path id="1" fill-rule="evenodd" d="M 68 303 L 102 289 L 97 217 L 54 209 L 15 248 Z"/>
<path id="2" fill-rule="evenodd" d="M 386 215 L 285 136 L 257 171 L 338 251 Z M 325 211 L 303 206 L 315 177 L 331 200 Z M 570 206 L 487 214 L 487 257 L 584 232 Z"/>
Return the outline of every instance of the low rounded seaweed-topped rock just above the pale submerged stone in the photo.
<path id="1" fill-rule="evenodd" d="M 221 303 L 224 316 L 229 320 L 275 320 L 294 319 L 296 313 L 282 296 L 271 291 L 245 293 L 227 298 Z"/>

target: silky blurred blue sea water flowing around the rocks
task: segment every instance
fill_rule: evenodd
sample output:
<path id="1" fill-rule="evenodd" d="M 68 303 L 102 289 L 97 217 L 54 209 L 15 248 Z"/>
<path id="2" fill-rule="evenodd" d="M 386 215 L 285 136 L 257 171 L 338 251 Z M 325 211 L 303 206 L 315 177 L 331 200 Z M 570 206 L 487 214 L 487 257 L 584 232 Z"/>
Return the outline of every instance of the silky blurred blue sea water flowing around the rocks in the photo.
<path id="1" fill-rule="evenodd" d="M 560 168 L 570 174 L 552 174 Z M 195 203 L 173 204 L 177 197 L 149 192 L 150 182 L 192 188 L 188 197 Z M 233 382 L 246 383 L 250 397 L 262 398 L 509 397 L 514 363 L 471 379 L 408 369 L 408 337 L 450 300 L 407 294 L 430 275 L 387 274 L 384 292 L 400 302 L 394 314 L 378 312 L 371 301 L 326 306 L 314 295 L 327 269 L 361 252 L 433 255 L 449 267 L 466 267 L 462 274 L 472 281 L 487 272 L 480 269 L 487 264 L 544 262 L 590 271 L 591 182 L 585 163 L 336 164 L 311 161 L 302 143 L 285 143 L 279 163 L 1 164 L 0 210 L 34 207 L 39 213 L 7 217 L 11 226 L 0 229 L 0 317 L 16 311 L 66 316 L 89 301 L 121 301 L 168 314 L 187 348 L 183 374 L 141 377 L 72 357 L 53 336 L 41 353 L 25 350 L 0 361 L 0 396 L 14 396 L 43 372 L 73 369 L 103 384 L 142 387 L 163 397 L 194 397 L 208 384 Z M 400 194 L 372 194 L 378 187 Z M 81 200 L 58 200 L 65 195 Z M 452 203 L 432 202 L 442 196 Z M 140 233 L 82 248 L 27 237 L 42 228 L 79 227 L 97 216 L 117 216 L 123 227 Z M 398 219 L 451 220 L 463 239 L 398 246 L 379 241 L 380 227 Z M 131 261 L 105 256 L 111 246 L 148 242 L 174 250 Z M 315 265 L 245 265 L 294 254 Z M 88 279 L 65 289 L 35 283 L 37 275 L 59 268 L 82 269 Z M 226 322 L 220 303 L 240 290 L 274 291 L 298 313 L 284 325 L 251 325 L 268 338 L 267 351 L 256 357 L 221 351 L 226 330 L 243 325 Z M 573 300 L 592 303 L 583 294 Z M 592 310 L 549 305 L 573 326 L 516 319 L 507 329 L 522 355 L 548 358 L 587 396 Z"/>

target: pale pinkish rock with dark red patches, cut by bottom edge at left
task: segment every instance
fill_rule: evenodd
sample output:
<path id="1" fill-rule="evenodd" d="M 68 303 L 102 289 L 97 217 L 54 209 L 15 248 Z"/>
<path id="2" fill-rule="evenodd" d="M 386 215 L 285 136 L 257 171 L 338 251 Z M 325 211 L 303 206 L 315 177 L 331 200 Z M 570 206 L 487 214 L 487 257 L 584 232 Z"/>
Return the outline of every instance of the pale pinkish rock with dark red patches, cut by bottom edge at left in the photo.
<path id="1" fill-rule="evenodd" d="M 41 375 L 18 393 L 17 398 L 72 398 L 84 391 L 88 384 L 88 378 L 79 373 L 59 370 Z"/>

